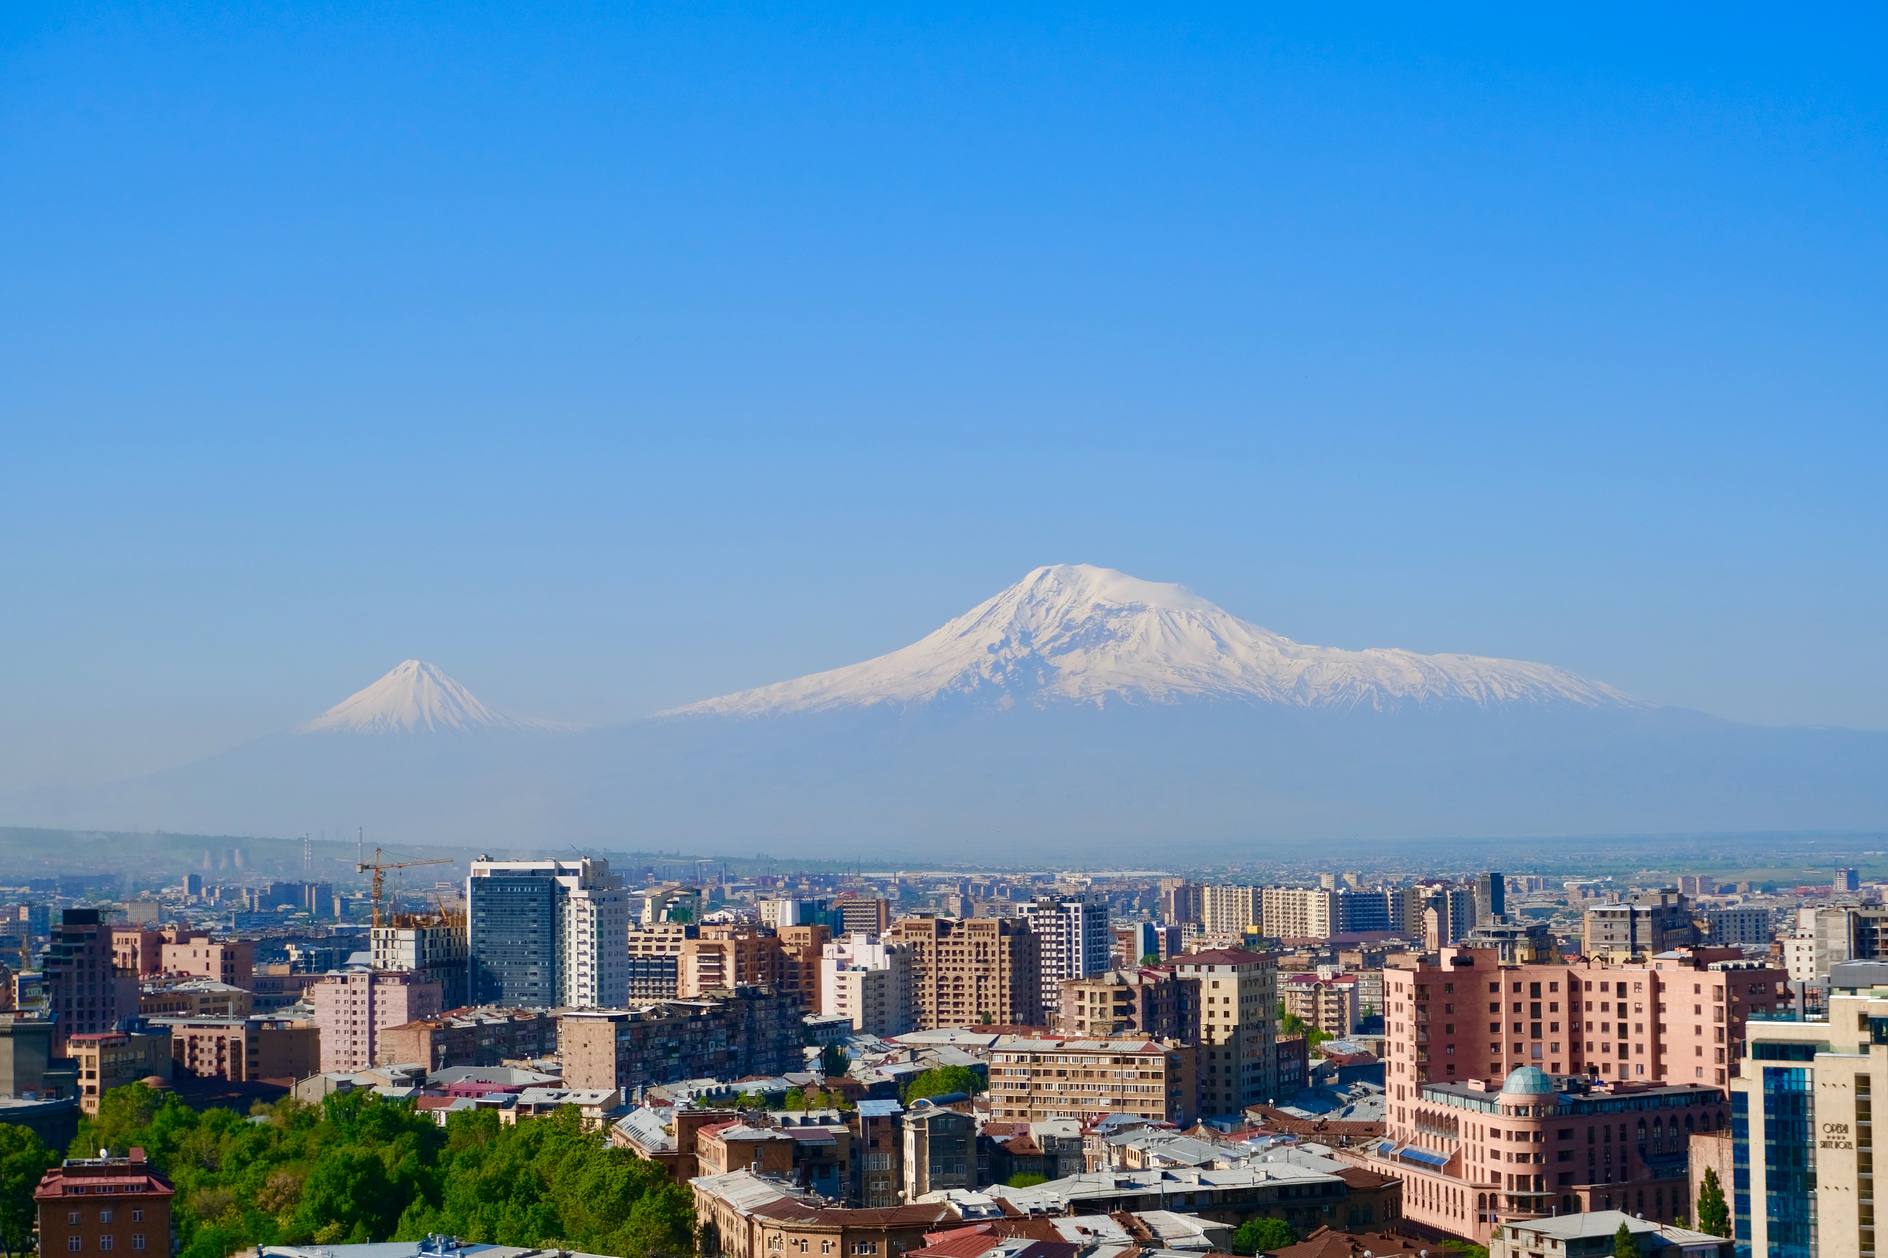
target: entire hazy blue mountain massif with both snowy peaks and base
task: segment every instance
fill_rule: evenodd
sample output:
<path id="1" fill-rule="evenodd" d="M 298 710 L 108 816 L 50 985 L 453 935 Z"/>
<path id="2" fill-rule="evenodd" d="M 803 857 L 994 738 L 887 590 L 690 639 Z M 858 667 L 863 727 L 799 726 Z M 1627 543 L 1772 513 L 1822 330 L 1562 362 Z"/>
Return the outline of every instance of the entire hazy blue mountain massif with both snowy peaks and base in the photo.
<path id="1" fill-rule="evenodd" d="M 298 730 L 0 798 L 0 820 L 1029 864 L 1869 830 L 1884 770 L 1882 732 L 1735 724 L 1546 664 L 1310 647 L 1178 585 L 1054 566 L 874 660 L 595 730 L 406 660 Z"/>

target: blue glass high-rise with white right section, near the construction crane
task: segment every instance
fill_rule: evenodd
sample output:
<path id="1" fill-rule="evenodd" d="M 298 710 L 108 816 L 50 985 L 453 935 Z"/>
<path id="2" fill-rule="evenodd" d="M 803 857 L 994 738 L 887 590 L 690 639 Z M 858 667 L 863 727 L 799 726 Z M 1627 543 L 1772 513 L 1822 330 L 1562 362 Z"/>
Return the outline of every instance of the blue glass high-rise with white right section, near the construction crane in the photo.
<path id="1" fill-rule="evenodd" d="M 608 860 L 493 860 L 466 879 L 472 1001 L 617 1009 L 629 998 L 629 896 Z"/>

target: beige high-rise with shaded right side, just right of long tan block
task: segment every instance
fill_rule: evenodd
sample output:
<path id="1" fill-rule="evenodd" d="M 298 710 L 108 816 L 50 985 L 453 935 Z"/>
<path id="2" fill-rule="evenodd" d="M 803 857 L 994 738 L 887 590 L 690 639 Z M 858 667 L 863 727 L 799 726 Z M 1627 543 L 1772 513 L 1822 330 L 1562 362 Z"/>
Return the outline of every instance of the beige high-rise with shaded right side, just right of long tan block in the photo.
<path id="1" fill-rule="evenodd" d="M 1169 962 L 1199 981 L 1199 1113 L 1237 1115 L 1278 1100 L 1278 962 L 1239 949 Z"/>

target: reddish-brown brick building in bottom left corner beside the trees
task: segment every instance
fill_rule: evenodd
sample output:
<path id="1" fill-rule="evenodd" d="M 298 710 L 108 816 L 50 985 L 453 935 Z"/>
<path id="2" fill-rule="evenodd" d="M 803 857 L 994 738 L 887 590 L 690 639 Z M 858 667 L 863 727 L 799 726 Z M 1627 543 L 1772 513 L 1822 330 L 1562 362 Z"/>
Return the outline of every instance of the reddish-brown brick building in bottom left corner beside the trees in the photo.
<path id="1" fill-rule="evenodd" d="M 170 1181 L 143 1160 L 143 1149 L 132 1149 L 128 1158 L 66 1158 L 32 1192 L 40 1252 L 168 1258 L 172 1194 Z"/>

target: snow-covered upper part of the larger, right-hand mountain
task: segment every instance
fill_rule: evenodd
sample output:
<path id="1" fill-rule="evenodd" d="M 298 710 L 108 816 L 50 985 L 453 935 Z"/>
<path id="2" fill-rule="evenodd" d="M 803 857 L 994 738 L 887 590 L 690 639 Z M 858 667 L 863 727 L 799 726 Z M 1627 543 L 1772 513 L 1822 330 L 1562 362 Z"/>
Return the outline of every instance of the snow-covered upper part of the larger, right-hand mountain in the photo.
<path id="1" fill-rule="evenodd" d="M 1643 707 L 1548 664 L 1308 647 L 1182 585 L 1057 564 L 1037 568 L 902 651 L 659 715 L 759 717 L 944 698 L 989 707 L 1189 698 L 1339 711 L 1412 703 Z"/>

